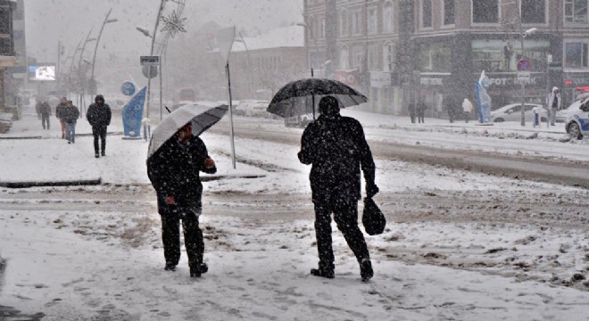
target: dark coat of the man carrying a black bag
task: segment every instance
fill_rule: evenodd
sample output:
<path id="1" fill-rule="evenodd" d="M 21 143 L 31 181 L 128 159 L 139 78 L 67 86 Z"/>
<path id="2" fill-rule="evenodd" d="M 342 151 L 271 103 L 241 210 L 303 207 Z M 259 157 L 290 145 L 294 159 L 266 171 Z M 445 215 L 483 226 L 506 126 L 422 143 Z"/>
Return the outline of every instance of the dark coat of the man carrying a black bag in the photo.
<path id="1" fill-rule="evenodd" d="M 298 156 L 303 164 L 312 164 L 313 202 L 360 200 L 360 169 L 364 179 L 374 183 L 372 153 L 356 119 L 339 115 L 333 118 L 319 116 L 305 128 Z"/>

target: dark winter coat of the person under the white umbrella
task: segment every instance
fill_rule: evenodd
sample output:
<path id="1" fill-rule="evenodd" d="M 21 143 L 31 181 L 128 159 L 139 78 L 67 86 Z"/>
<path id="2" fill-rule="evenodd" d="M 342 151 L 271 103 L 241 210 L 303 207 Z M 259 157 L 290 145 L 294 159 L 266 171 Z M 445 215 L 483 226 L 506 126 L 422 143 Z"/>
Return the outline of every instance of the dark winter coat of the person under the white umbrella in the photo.
<path id="1" fill-rule="evenodd" d="M 192 136 L 182 146 L 173 136 L 147 160 L 147 176 L 158 193 L 158 201 L 174 196 L 178 206 L 200 207 L 203 184 L 200 172 L 214 174 L 217 168 L 207 169 L 204 160 L 209 157 L 199 137 Z"/>

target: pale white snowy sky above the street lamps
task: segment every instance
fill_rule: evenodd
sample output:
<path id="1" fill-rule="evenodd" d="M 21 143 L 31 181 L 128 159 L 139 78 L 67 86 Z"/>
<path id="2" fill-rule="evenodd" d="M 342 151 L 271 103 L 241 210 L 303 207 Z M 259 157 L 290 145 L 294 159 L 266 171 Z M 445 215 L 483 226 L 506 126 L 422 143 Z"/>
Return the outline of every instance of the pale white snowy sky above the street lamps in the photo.
<path id="1" fill-rule="evenodd" d="M 104 27 L 99 48 L 118 52 L 139 47 L 147 52 L 149 38 L 136 27 L 153 30 L 159 4 L 159 0 L 26 0 L 29 56 L 37 56 L 44 62 L 55 61 L 58 41 L 62 41 L 69 53 L 90 29 L 94 28 L 91 37 L 97 36 L 110 8 L 110 18 L 119 21 Z M 173 9 L 174 5 L 170 2 L 167 8 Z M 188 32 L 207 21 L 215 21 L 221 27 L 235 25 L 254 35 L 303 21 L 302 10 L 303 0 L 187 0 L 183 17 L 187 18 Z"/>

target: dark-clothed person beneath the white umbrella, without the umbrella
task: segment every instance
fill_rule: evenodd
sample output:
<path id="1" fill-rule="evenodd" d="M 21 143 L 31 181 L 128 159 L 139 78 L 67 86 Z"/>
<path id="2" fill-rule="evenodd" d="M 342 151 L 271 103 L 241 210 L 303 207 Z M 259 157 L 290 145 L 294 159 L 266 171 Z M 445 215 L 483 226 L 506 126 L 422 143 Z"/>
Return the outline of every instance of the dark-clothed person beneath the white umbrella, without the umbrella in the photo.
<path id="1" fill-rule="evenodd" d="M 217 168 L 203 140 L 192 135 L 190 123 L 179 128 L 147 160 L 147 176 L 157 193 L 158 212 L 162 218 L 164 269 L 175 271 L 178 265 L 181 220 L 191 277 L 200 277 L 209 269 L 203 262 L 203 231 L 198 226 L 203 211 L 201 171 L 214 174 Z"/>

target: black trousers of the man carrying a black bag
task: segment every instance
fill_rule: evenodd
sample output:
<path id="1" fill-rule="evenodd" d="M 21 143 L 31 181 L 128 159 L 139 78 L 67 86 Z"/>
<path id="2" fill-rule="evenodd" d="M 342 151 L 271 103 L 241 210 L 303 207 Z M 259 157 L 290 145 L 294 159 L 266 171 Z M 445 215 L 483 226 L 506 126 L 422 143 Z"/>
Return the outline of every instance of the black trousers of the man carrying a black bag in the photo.
<path id="1" fill-rule="evenodd" d="M 315 235 L 319 251 L 319 268 L 334 268 L 334 251 L 331 240 L 331 214 L 334 214 L 337 228 L 344 235 L 345 242 L 360 263 L 370 259 L 368 247 L 358 226 L 358 202 L 315 202 Z"/>

